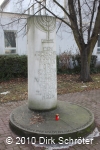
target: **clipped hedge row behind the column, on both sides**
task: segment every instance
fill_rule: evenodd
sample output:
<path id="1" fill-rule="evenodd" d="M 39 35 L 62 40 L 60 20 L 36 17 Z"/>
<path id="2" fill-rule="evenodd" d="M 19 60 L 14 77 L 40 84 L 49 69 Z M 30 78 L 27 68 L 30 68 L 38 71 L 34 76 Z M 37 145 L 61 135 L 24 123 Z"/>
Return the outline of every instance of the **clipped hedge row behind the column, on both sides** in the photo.
<path id="1" fill-rule="evenodd" d="M 67 58 L 67 57 L 66 57 Z M 68 68 L 68 61 L 65 57 L 57 56 L 57 73 L 79 74 L 81 70 L 80 55 L 71 56 L 74 68 Z M 61 59 L 61 60 L 60 60 Z M 63 60 L 62 60 L 63 59 Z M 97 56 L 92 55 L 91 58 L 91 73 L 100 72 L 100 67 L 96 68 Z M 59 63 L 60 62 L 60 63 Z M 64 63 L 61 65 L 61 62 Z M 77 62 L 77 63 L 76 63 Z M 67 63 L 67 64 L 66 64 Z M 67 67 L 66 67 L 67 66 Z M 19 55 L 0 55 L 0 82 L 12 78 L 26 78 L 27 77 L 27 56 Z"/>

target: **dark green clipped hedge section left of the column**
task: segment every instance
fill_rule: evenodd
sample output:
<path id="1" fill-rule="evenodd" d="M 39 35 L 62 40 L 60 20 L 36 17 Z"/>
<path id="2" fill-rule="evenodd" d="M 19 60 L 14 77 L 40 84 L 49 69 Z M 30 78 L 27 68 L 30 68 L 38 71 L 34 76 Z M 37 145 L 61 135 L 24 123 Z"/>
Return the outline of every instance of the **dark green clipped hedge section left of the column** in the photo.
<path id="1" fill-rule="evenodd" d="M 0 81 L 27 77 L 27 56 L 0 55 Z"/>

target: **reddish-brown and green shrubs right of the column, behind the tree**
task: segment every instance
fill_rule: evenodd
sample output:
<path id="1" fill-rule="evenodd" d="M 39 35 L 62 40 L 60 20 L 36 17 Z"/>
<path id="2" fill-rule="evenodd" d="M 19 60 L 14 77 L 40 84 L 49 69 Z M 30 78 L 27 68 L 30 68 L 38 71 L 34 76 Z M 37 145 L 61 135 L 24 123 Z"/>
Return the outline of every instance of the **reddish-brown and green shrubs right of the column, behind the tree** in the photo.
<path id="1" fill-rule="evenodd" d="M 97 56 L 91 56 L 90 73 L 98 73 L 96 68 Z M 73 69 L 71 67 L 73 64 Z M 57 56 L 57 73 L 79 74 L 81 71 L 80 55 L 71 55 L 71 53 L 62 53 Z"/>

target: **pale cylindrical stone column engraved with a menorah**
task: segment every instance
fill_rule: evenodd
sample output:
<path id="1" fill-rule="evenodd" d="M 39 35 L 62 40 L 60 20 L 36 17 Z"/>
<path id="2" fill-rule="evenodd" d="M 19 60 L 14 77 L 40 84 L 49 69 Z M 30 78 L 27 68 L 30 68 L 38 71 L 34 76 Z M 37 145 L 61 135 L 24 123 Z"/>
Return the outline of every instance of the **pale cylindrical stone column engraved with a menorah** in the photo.
<path id="1" fill-rule="evenodd" d="M 28 19 L 28 107 L 50 110 L 57 106 L 55 18 Z"/>

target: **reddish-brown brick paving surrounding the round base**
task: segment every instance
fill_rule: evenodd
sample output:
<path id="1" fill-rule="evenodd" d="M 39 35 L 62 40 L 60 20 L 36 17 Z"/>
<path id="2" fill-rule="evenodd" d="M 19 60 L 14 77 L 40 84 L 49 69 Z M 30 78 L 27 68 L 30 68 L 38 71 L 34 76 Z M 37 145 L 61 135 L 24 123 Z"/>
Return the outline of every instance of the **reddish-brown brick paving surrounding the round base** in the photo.
<path id="1" fill-rule="evenodd" d="M 100 90 L 92 90 L 86 92 L 70 93 L 59 95 L 59 100 L 73 102 L 89 108 L 95 116 L 96 127 L 100 131 Z M 9 128 L 9 115 L 12 110 L 25 103 L 25 101 L 8 102 L 0 104 L 0 150 L 45 150 L 45 148 L 34 147 L 29 143 L 16 144 L 18 141 Z M 6 138 L 12 137 L 13 143 L 7 144 Z M 57 149 L 56 149 L 57 150 Z M 100 137 L 95 138 L 93 144 L 75 145 L 65 150 L 100 150 Z"/>

